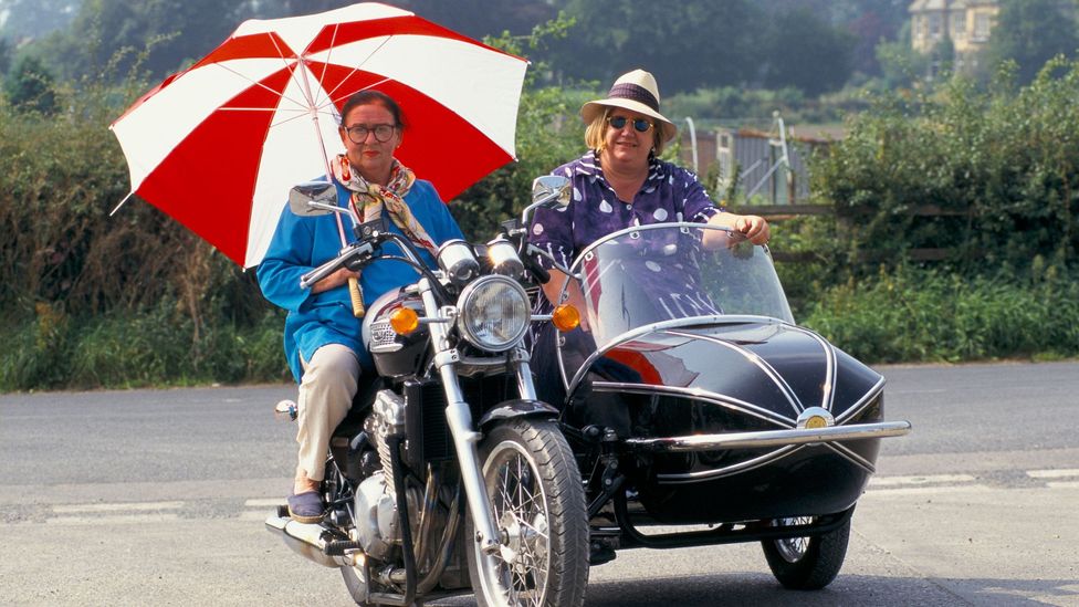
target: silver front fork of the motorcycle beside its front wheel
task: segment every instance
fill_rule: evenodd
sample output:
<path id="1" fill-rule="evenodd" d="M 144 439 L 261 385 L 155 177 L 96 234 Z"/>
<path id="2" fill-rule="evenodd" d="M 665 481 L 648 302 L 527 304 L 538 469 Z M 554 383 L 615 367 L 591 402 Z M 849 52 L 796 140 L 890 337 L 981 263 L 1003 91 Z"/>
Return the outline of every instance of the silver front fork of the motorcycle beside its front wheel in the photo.
<path id="1" fill-rule="evenodd" d="M 447 318 L 452 315 L 450 311 L 439 310 L 428 279 L 422 279 L 419 287 L 428 317 Z M 472 521 L 476 528 L 476 536 L 473 540 L 480 544 L 480 550 L 484 554 L 496 554 L 501 546 L 501 536 L 483 483 L 483 470 L 480 467 L 478 447 L 480 440 L 483 439 L 483 433 L 475 430 L 472 411 L 461 391 L 457 375 L 457 363 L 460 360 L 460 355 L 455 348 L 450 347 L 447 325 L 448 323 L 443 322 L 430 324 L 431 339 L 436 348 L 434 366 L 438 368 L 442 388 L 446 390 L 446 419 L 450 435 L 453 437 L 453 447 L 457 449 L 458 465 L 461 468 L 461 481 L 464 484 L 469 512 L 472 514 Z M 510 362 L 516 374 L 521 398 L 535 399 L 536 393 L 532 383 L 528 354 L 523 347 L 517 346 L 512 350 Z"/>

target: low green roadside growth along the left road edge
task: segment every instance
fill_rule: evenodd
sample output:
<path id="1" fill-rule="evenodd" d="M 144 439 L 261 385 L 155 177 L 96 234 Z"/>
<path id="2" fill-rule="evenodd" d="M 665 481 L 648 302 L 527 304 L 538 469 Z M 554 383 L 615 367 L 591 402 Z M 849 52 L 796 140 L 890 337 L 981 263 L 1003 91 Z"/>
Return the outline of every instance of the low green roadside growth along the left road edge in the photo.
<path id="1" fill-rule="evenodd" d="M 175 302 L 71 318 L 48 304 L 33 322 L 0 327 L 0 391 L 129 388 L 291 378 L 282 354 L 284 315 L 198 331 Z"/>

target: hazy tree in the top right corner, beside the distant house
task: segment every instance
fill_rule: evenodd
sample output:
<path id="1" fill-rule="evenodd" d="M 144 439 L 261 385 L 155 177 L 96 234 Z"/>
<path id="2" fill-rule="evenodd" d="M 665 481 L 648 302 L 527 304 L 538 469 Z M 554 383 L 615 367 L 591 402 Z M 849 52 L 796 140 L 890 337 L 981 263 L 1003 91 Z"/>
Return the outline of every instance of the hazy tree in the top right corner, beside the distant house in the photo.
<path id="1" fill-rule="evenodd" d="M 1003 0 L 982 66 L 993 74 L 1013 60 L 1018 82 L 1027 83 L 1049 59 L 1072 56 L 1077 46 L 1076 21 L 1070 12 L 1066 18 L 1058 0 Z"/>

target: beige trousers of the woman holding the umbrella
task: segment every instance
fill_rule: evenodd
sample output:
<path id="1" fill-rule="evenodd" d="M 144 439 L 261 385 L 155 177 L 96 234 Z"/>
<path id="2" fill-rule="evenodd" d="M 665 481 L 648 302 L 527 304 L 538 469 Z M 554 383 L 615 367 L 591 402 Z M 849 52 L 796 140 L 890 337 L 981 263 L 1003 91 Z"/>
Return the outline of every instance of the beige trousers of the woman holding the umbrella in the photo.
<path id="1" fill-rule="evenodd" d="M 334 428 L 348 414 L 359 381 L 359 360 L 348 346 L 326 344 L 311 360 L 301 357 L 304 374 L 300 379 L 296 442 L 298 467 L 308 479 L 326 477 L 326 451 Z"/>

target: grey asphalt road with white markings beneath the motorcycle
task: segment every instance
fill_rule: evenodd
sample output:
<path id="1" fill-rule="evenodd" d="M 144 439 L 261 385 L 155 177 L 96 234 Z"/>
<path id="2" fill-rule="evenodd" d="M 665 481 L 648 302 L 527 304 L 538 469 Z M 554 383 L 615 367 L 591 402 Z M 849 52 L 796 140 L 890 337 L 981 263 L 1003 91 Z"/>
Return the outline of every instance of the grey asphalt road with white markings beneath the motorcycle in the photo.
<path id="1" fill-rule="evenodd" d="M 588 606 L 1079 606 L 1079 363 L 879 370 L 914 432 L 884 442 L 828 588 L 781 589 L 757 545 L 625 551 Z M 349 605 L 263 528 L 293 394 L 0 396 L 0 604 Z"/>

